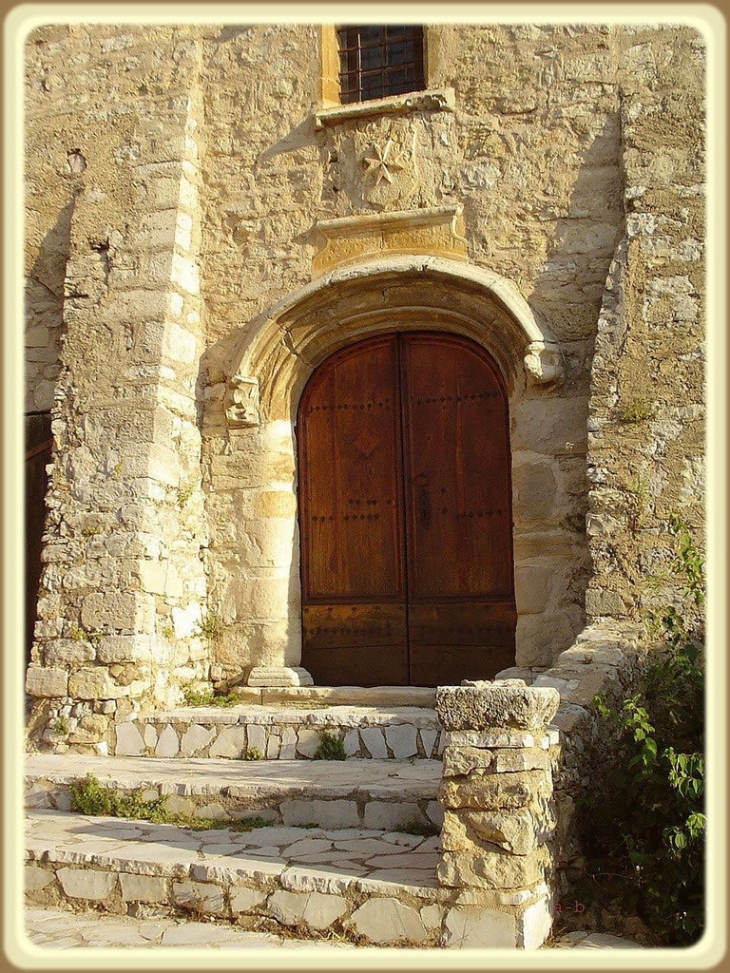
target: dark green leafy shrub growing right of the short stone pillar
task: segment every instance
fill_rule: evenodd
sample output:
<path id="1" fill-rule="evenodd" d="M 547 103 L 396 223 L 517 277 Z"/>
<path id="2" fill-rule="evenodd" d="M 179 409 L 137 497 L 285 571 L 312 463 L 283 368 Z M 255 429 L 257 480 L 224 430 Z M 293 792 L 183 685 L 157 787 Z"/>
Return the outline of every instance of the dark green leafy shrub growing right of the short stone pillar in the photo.
<path id="1" fill-rule="evenodd" d="M 605 741 L 592 753 L 580 827 L 604 898 L 610 889 L 662 943 L 685 946 L 704 925 L 704 559 L 684 521 L 670 530 L 683 602 L 652 614 L 660 646 L 635 691 L 620 706 L 594 699 L 612 748 L 608 762 Z"/>

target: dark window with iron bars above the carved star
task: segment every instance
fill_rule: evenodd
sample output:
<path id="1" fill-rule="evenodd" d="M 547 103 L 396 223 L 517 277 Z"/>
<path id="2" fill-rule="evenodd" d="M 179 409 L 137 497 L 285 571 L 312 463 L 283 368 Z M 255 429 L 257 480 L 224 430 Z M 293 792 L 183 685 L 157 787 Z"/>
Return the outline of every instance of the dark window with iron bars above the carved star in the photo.
<path id="1" fill-rule="evenodd" d="M 337 39 L 343 105 L 425 87 L 422 27 L 339 27 Z"/>

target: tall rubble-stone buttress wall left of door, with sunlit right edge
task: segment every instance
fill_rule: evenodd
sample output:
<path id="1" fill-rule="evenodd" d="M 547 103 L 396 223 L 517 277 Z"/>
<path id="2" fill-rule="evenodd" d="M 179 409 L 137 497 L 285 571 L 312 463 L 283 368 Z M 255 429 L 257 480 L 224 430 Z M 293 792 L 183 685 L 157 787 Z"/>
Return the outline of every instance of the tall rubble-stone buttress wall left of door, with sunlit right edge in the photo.
<path id="1" fill-rule="evenodd" d="M 47 742 L 104 752 L 114 720 L 208 672 L 199 49 L 184 31 L 74 27 L 35 32 L 27 55 L 37 219 L 68 237 L 27 689 Z"/>

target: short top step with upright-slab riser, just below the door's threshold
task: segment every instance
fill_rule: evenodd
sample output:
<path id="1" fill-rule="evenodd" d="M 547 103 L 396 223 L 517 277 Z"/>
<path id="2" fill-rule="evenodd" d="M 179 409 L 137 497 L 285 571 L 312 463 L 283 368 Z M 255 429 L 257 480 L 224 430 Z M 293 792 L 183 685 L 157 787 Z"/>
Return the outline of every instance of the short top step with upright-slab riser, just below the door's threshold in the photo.
<path id="1" fill-rule="evenodd" d="M 299 687 L 297 687 L 299 688 Z M 302 687 L 311 688 L 311 687 Z M 326 705 L 305 701 L 194 706 L 117 724 L 120 756 L 312 759 L 322 734 L 340 740 L 348 758 L 440 757 L 444 734 L 433 709 Z"/>

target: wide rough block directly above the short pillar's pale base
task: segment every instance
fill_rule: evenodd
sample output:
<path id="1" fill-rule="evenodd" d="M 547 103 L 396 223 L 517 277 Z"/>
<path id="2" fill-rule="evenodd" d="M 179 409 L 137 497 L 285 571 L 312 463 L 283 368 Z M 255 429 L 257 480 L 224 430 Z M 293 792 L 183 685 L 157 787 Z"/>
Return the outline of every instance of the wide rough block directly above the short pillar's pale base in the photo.
<path id="1" fill-rule="evenodd" d="M 449 888 L 523 889 L 545 877 L 546 854 L 443 851 L 436 868 L 439 885 Z"/>

